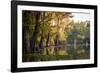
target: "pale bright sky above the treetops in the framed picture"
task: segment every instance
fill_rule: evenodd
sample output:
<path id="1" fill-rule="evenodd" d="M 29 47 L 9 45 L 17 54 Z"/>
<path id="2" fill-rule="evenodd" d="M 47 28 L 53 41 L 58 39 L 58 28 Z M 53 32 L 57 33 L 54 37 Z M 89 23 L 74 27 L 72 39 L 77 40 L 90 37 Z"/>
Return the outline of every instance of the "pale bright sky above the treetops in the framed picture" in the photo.
<path id="1" fill-rule="evenodd" d="M 90 20 L 90 14 L 89 13 L 72 13 L 72 15 L 73 15 L 73 20 L 75 22 Z"/>

